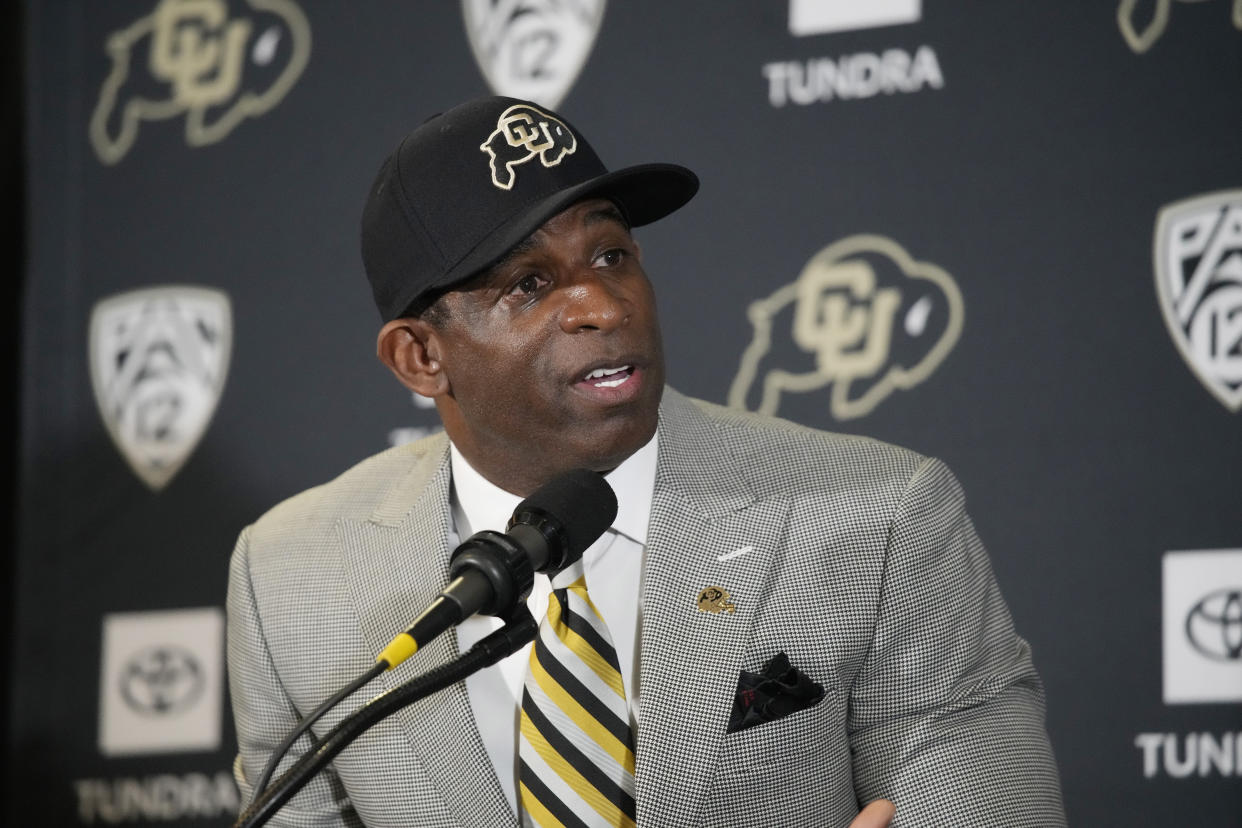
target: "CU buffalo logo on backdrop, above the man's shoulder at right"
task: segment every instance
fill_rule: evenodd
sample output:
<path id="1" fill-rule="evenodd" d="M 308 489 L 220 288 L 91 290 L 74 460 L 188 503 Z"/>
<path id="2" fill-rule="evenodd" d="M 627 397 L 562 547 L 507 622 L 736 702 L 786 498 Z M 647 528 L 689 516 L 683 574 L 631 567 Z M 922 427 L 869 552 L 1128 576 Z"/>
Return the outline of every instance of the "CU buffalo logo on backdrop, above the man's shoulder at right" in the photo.
<path id="1" fill-rule="evenodd" d="M 831 386 L 828 411 L 850 420 L 930 376 L 958 343 L 965 309 L 941 268 L 883 236 L 851 236 L 748 315 L 754 338 L 729 405 L 775 415 L 782 395 Z"/>

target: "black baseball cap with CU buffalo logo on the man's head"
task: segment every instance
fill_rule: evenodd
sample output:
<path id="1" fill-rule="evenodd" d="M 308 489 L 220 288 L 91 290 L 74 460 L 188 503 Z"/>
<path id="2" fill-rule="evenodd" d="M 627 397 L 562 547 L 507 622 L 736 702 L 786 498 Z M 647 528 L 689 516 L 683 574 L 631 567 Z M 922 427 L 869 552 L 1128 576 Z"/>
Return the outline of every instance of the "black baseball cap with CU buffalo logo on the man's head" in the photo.
<path id="1" fill-rule="evenodd" d="M 529 101 L 478 98 L 428 118 L 380 168 L 363 209 L 363 263 L 384 322 L 483 271 L 561 210 L 612 200 L 631 226 L 698 190 L 676 164 L 612 173 L 568 120 Z"/>

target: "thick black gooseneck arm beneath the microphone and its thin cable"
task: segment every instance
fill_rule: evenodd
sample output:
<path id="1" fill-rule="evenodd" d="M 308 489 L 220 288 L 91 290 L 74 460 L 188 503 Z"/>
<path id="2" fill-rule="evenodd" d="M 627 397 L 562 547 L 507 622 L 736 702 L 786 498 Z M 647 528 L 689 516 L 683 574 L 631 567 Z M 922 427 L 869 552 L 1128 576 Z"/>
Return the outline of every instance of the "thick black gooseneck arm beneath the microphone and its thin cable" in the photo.
<path id="1" fill-rule="evenodd" d="M 411 705 L 436 690 L 451 686 L 471 673 L 496 664 L 505 655 L 518 652 L 534 641 L 538 632 L 539 626 L 535 619 L 525 606 L 522 606 L 515 617 L 509 618 L 503 627 L 471 647 L 469 652 L 457 660 L 442 664 L 375 696 L 343 719 L 314 750 L 303 754 L 293 767 L 272 783 L 272 787 L 251 802 L 250 807 L 233 823 L 233 828 L 255 828 L 265 824 L 286 802 L 293 798 L 293 794 L 306 787 L 307 782 L 337 754 L 345 750 L 368 727 L 401 708 Z"/>

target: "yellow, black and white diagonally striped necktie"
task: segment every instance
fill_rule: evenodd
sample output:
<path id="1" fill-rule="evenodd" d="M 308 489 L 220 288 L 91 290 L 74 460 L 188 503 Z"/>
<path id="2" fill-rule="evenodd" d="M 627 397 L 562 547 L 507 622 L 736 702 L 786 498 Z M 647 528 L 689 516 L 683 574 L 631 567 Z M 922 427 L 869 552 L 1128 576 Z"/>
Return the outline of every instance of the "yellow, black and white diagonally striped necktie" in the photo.
<path id="1" fill-rule="evenodd" d="M 581 561 L 551 586 L 522 693 L 523 824 L 632 827 L 635 739 L 612 638 Z"/>

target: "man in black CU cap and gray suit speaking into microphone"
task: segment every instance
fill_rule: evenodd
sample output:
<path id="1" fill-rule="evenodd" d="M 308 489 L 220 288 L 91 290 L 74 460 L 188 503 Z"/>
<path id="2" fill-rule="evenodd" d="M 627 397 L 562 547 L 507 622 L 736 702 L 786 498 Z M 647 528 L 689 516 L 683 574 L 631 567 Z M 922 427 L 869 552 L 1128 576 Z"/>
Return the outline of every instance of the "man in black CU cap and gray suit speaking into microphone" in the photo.
<path id="1" fill-rule="evenodd" d="M 378 353 L 445 433 L 242 533 L 229 659 L 246 799 L 298 716 L 435 597 L 461 539 L 586 467 L 620 502 L 579 586 L 636 732 L 620 798 L 640 824 L 883 826 L 889 802 L 894 826 L 1063 823 L 1038 677 L 944 466 L 664 387 L 630 227 L 696 189 L 673 165 L 607 173 L 568 122 L 508 98 L 430 119 L 385 161 L 363 217 Z M 385 686 L 493 626 L 467 622 Z M 558 783 L 527 776 L 528 658 L 368 730 L 276 822 L 602 824 L 607 803 L 563 786 L 549 804 Z"/>

